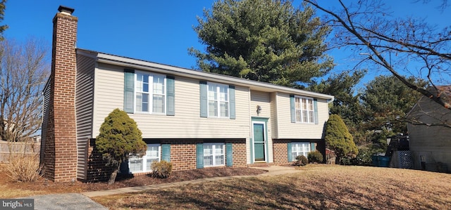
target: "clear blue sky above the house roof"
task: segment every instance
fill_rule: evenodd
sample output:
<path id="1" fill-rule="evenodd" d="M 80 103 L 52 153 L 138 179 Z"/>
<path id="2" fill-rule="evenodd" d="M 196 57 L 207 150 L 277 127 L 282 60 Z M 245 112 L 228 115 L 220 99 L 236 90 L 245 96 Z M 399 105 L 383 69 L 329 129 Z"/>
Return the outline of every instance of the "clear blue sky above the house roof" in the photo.
<path id="1" fill-rule="evenodd" d="M 301 1 L 294 1 L 299 6 Z M 333 1 L 328 1 L 329 2 Z M 414 15 L 433 24 L 451 25 L 451 7 L 438 11 L 438 2 L 388 1 L 395 15 Z M 441 2 L 441 1 L 440 1 Z M 192 27 L 197 15 L 211 8 L 214 0 L 8 0 L 4 21 L 7 39 L 29 37 L 51 44 L 52 18 L 60 5 L 75 8 L 78 17 L 78 48 L 121 55 L 155 63 L 191 68 L 196 65 L 187 48 L 203 49 Z M 332 5 L 332 4 L 330 4 Z M 336 71 L 352 67 L 346 52 L 330 53 L 338 63 Z M 373 77 L 373 76 L 369 76 Z"/>

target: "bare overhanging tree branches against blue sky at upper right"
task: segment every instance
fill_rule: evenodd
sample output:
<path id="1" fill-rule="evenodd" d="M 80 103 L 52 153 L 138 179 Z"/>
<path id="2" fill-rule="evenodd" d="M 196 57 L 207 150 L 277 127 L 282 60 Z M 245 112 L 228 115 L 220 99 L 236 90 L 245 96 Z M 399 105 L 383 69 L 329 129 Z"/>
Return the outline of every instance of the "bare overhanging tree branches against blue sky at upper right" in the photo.
<path id="1" fill-rule="evenodd" d="M 350 48 L 355 56 L 364 56 L 359 64 L 370 61 L 375 67 L 388 70 L 402 84 L 451 110 L 450 96 L 440 87 L 451 84 L 449 27 L 439 29 L 412 17 L 394 18 L 378 0 L 346 1 L 352 2 L 347 5 L 338 0 L 338 8 L 326 8 L 315 0 L 304 2 L 326 13 L 326 23 L 333 26 L 335 34 L 332 46 Z M 439 7 L 446 3 L 443 1 Z M 408 74 L 428 81 L 430 88 L 410 82 L 406 79 Z"/>

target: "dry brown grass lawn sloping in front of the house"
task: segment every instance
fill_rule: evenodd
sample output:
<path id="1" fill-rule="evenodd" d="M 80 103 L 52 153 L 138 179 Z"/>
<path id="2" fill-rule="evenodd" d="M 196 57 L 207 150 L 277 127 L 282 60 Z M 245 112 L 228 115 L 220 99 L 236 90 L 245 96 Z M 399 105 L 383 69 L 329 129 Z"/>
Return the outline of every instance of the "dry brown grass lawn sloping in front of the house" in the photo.
<path id="1" fill-rule="evenodd" d="M 451 174 L 310 164 L 281 176 L 236 178 L 94 197 L 109 209 L 447 209 Z"/>

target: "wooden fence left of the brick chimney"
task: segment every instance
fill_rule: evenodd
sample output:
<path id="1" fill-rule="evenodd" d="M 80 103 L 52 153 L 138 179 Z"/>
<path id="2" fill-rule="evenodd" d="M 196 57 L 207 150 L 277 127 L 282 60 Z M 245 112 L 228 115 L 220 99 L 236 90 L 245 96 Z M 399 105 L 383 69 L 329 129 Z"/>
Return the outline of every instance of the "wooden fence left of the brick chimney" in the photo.
<path id="1" fill-rule="evenodd" d="M 37 155 L 41 149 L 40 143 L 11 143 L 5 140 L 0 140 L 0 163 L 8 162 L 10 155 Z"/>

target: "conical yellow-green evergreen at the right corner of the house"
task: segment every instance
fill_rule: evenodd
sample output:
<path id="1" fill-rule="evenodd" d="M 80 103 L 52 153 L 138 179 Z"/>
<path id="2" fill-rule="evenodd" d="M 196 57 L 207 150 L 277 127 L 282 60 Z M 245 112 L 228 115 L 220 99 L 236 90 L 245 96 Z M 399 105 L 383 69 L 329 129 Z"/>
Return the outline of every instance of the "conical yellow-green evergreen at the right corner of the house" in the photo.
<path id="1" fill-rule="evenodd" d="M 354 157 L 359 153 L 351 133 L 338 114 L 330 114 L 326 124 L 326 147 L 334 150 L 341 162 L 343 157 Z"/>

